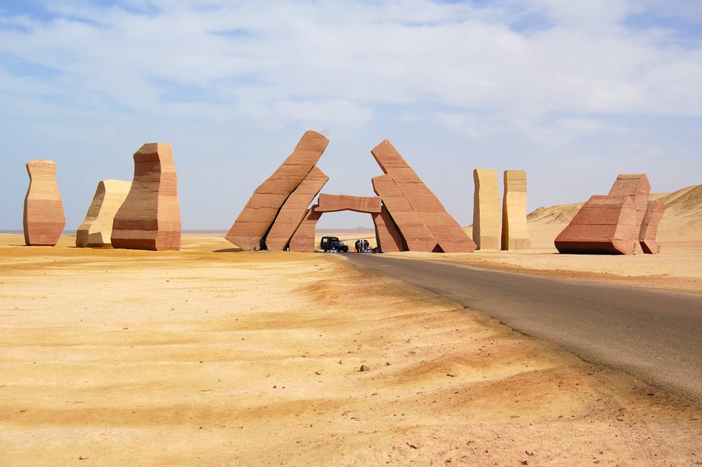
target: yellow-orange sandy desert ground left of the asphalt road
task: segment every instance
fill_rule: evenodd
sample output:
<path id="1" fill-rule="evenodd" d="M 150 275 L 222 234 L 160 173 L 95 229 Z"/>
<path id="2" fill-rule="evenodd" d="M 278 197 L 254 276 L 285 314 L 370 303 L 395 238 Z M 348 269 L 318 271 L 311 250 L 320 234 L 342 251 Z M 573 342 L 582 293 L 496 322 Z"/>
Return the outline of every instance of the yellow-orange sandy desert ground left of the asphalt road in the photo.
<path id="1" fill-rule="evenodd" d="M 696 402 L 342 254 L 73 242 L 0 235 L 2 466 L 702 463 Z"/>

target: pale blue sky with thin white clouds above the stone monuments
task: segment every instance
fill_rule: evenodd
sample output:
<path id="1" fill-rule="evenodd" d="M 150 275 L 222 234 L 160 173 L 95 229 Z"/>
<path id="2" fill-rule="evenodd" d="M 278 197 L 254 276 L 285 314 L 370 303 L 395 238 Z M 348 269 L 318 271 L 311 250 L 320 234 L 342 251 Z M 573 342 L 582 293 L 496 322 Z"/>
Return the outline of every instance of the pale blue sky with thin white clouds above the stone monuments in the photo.
<path id="1" fill-rule="evenodd" d="M 228 229 L 304 131 L 323 191 L 373 195 L 388 138 L 462 225 L 472 170 L 524 169 L 529 210 L 702 183 L 702 2 L 0 1 L 0 229 L 52 159 L 67 225 L 99 180 L 173 145 L 183 228 Z M 327 214 L 321 228 L 370 226 Z"/>

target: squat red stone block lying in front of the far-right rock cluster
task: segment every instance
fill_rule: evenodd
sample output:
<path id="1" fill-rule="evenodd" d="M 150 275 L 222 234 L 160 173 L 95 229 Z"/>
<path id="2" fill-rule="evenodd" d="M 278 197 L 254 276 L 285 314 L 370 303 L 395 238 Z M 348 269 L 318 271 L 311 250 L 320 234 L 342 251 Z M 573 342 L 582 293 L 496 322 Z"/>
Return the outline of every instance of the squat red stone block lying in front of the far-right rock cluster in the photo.
<path id="1" fill-rule="evenodd" d="M 634 198 L 592 196 L 555 239 L 560 253 L 633 254 L 639 225 Z"/>

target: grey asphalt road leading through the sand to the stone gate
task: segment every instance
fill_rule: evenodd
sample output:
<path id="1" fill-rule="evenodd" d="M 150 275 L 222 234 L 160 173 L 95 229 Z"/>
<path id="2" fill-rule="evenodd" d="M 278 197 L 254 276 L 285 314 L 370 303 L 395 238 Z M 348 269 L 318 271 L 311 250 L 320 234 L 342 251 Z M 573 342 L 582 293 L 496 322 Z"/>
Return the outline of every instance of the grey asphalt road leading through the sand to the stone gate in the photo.
<path id="1" fill-rule="evenodd" d="M 378 254 L 344 256 L 702 402 L 702 295 Z"/>

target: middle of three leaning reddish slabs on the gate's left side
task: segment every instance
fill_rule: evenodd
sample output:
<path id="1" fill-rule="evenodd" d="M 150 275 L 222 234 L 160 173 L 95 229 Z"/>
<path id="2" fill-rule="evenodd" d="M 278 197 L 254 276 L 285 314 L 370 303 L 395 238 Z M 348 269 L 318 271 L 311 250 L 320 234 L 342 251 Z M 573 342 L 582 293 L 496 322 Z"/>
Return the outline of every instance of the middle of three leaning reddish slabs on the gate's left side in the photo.
<path id="1" fill-rule="evenodd" d="M 312 199 L 322 190 L 324 184 L 329 181 L 329 177 L 317 167 L 312 167 L 305 180 L 298 185 L 291 195 L 286 199 L 283 207 L 276 216 L 273 225 L 265 236 L 267 249 L 280 251 L 285 249 L 291 237 L 298 229 L 307 213 L 307 206 L 310 206 Z"/>

